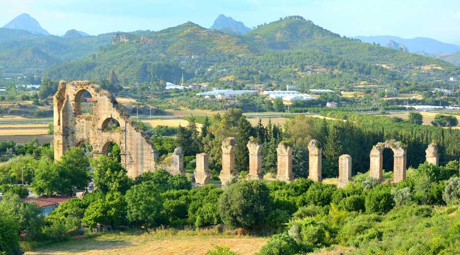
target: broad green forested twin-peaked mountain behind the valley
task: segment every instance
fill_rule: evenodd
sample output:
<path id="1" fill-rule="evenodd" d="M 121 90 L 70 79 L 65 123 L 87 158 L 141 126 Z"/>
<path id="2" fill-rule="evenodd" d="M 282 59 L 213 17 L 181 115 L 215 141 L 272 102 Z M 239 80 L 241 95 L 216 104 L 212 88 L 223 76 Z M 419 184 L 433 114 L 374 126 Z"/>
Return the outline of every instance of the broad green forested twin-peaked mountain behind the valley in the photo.
<path id="1" fill-rule="evenodd" d="M 45 74 L 100 81 L 108 70 L 116 72 L 123 85 L 161 79 L 177 83 L 183 73 L 191 82 L 294 83 L 303 88 L 437 81 L 460 74 L 445 61 L 341 37 L 300 16 L 243 35 L 193 22 L 150 34 L 116 33 L 111 45 Z"/>

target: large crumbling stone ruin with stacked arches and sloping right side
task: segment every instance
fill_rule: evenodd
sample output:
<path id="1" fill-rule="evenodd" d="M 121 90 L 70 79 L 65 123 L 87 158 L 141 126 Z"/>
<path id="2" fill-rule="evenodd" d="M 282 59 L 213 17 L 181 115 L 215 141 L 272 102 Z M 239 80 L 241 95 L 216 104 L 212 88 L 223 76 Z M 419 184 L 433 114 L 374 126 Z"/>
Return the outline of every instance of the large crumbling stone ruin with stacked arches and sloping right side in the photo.
<path id="1" fill-rule="evenodd" d="M 81 98 L 88 91 L 93 101 L 93 114 L 81 114 Z M 121 164 L 131 178 L 155 169 L 158 157 L 155 146 L 135 121 L 131 121 L 109 92 L 88 81 L 59 83 L 54 95 L 54 157 L 59 160 L 65 150 L 89 142 L 93 155 L 108 154 L 110 143 L 120 146 Z M 113 121 L 115 130 L 104 126 Z"/>

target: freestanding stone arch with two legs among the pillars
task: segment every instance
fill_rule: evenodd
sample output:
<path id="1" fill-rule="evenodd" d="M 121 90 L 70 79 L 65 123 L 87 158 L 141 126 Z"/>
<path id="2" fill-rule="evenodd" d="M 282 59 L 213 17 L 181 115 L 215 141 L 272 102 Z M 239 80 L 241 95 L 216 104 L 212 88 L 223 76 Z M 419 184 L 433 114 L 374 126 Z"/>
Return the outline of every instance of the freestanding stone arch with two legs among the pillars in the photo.
<path id="1" fill-rule="evenodd" d="M 393 182 L 406 180 L 406 148 L 401 142 L 389 140 L 377 143 L 371 150 L 371 177 L 382 181 L 383 150 L 390 148 L 394 153 Z"/>

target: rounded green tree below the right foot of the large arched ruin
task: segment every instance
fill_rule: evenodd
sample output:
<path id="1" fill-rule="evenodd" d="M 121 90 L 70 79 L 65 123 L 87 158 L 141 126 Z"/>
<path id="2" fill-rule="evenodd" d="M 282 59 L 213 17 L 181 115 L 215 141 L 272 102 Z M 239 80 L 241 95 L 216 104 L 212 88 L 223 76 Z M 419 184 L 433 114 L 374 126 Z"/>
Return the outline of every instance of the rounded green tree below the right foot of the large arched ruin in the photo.
<path id="1" fill-rule="evenodd" d="M 163 209 L 162 189 L 152 181 L 134 185 L 126 192 L 127 219 L 133 225 L 154 227 L 159 225 Z"/>

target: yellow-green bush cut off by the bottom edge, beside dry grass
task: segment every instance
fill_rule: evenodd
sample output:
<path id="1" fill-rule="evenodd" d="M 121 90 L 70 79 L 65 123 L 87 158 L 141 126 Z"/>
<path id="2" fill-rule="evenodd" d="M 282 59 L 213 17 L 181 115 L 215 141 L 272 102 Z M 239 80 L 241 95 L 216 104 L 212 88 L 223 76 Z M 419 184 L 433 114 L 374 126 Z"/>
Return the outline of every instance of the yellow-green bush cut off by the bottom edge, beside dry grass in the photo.
<path id="1" fill-rule="evenodd" d="M 258 255 L 294 255 L 311 249 L 298 245 L 287 233 L 273 235 Z"/>

